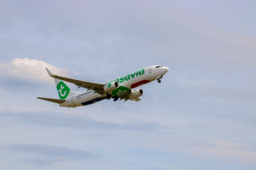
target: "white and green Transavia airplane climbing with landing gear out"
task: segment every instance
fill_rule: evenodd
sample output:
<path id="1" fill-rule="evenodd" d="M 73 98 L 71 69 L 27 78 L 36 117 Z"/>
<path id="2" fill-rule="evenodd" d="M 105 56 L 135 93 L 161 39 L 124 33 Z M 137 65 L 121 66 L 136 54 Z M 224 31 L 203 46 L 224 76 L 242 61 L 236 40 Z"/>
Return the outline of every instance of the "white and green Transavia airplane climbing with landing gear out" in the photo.
<path id="1" fill-rule="evenodd" d="M 89 81 L 82 81 L 60 77 L 52 74 L 49 69 L 46 71 L 50 77 L 54 78 L 57 91 L 60 99 L 50 99 L 44 97 L 37 97 L 38 99 L 58 103 L 61 107 L 79 107 L 86 106 L 104 99 L 132 100 L 140 101 L 139 97 L 144 94 L 142 89 L 134 89 L 151 81 L 157 80 L 161 83 L 163 75 L 169 70 L 168 67 L 162 65 L 152 65 L 139 69 L 107 83 L 93 83 Z M 63 81 L 74 83 L 77 88 L 83 87 L 85 91 L 72 91 Z"/>

